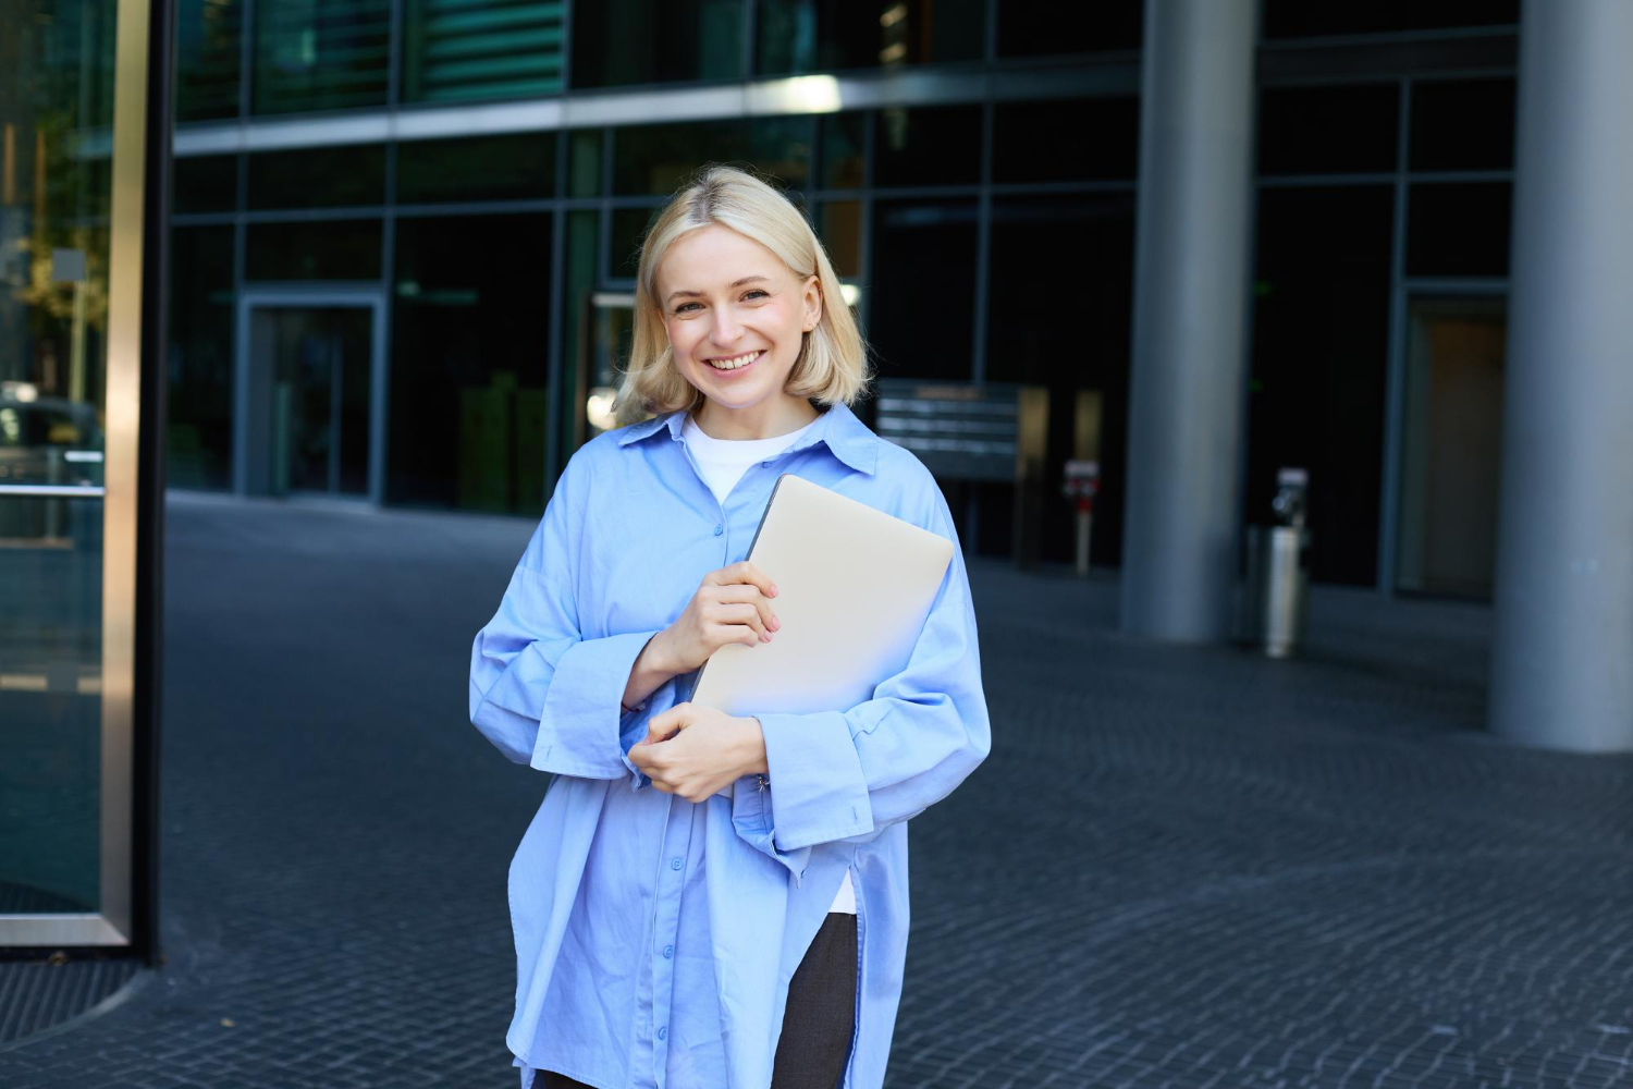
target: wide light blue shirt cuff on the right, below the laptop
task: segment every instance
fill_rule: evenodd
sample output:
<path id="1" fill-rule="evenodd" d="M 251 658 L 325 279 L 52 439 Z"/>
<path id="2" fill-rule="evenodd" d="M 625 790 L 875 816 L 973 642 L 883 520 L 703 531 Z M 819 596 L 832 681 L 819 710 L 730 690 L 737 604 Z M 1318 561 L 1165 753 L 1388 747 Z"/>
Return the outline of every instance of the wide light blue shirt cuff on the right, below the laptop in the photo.
<path id="1" fill-rule="evenodd" d="M 874 829 L 862 759 L 849 720 L 836 712 L 754 715 L 766 738 L 772 838 L 797 851 Z"/>

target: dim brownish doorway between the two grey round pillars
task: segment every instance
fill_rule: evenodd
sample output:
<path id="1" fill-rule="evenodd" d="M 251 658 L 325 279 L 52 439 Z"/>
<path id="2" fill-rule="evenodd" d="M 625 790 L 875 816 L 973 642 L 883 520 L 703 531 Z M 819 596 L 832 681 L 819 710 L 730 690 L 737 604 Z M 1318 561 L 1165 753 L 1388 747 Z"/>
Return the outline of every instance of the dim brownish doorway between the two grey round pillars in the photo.
<path id="1" fill-rule="evenodd" d="M 1491 596 L 1506 310 L 1501 296 L 1408 307 L 1396 589 Z"/>

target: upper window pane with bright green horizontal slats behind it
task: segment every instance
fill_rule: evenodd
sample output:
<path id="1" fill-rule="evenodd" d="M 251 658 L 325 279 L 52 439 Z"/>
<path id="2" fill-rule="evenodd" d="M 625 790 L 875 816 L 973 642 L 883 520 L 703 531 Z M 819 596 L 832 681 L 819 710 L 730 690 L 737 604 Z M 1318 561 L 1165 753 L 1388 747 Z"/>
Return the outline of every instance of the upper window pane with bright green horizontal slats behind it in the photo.
<path id="1" fill-rule="evenodd" d="M 403 100 L 560 95 L 563 8 L 539 0 L 407 0 Z"/>

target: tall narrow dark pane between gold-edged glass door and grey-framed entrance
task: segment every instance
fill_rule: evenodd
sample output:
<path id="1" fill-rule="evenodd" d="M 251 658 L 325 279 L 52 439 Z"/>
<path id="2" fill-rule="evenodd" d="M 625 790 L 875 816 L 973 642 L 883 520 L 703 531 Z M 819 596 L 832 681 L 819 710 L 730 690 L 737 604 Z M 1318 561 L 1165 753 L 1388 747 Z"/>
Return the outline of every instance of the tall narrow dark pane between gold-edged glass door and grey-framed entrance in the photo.
<path id="1" fill-rule="evenodd" d="M 167 482 L 232 487 L 232 227 L 170 232 Z"/>

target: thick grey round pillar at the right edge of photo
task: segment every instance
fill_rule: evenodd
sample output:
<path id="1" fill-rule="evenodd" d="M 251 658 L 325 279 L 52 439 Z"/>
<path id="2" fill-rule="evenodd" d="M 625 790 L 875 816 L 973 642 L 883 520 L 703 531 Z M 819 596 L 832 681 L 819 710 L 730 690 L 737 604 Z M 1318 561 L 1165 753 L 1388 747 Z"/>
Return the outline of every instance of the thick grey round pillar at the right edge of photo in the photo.
<path id="1" fill-rule="evenodd" d="M 1633 3 L 1520 18 L 1491 730 L 1633 749 Z"/>

